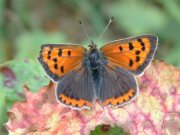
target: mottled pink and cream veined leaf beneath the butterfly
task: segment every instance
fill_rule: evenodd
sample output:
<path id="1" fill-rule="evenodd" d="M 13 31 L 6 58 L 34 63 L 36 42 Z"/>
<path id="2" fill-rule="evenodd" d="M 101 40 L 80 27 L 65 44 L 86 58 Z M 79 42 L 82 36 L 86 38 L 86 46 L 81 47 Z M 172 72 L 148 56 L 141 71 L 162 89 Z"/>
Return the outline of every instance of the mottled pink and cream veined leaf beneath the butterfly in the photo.
<path id="1" fill-rule="evenodd" d="M 31 93 L 24 87 L 26 101 L 8 112 L 6 127 L 14 134 L 89 134 L 96 126 L 123 127 L 129 134 L 173 134 L 180 132 L 180 70 L 154 62 L 138 78 L 136 100 L 121 108 L 103 108 L 98 101 L 92 110 L 72 110 L 56 102 L 55 84 Z"/>

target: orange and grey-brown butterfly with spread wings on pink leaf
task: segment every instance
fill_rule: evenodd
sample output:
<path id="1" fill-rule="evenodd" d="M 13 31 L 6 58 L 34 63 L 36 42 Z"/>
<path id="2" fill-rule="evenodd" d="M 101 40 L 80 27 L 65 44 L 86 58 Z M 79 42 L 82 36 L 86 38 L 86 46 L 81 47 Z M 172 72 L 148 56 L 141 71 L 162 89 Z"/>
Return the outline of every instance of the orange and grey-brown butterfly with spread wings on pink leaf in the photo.
<path id="1" fill-rule="evenodd" d="M 119 107 L 138 94 L 135 75 L 143 74 L 158 45 L 154 35 L 115 40 L 100 49 L 92 41 L 88 49 L 75 44 L 44 44 L 39 62 L 57 83 L 56 98 L 74 109 Z"/>

